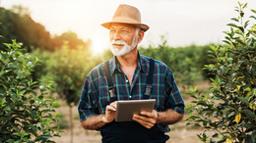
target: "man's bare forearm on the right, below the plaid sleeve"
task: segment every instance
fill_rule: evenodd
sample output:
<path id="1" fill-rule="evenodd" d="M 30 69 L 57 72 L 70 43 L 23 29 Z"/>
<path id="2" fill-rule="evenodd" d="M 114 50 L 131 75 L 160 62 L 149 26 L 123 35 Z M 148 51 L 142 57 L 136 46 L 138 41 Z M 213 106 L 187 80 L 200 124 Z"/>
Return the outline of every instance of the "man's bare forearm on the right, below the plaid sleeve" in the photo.
<path id="1" fill-rule="evenodd" d="M 166 110 L 165 112 L 158 113 L 157 123 L 159 124 L 173 124 L 179 120 L 183 119 L 183 115 L 178 114 L 173 110 Z"/>

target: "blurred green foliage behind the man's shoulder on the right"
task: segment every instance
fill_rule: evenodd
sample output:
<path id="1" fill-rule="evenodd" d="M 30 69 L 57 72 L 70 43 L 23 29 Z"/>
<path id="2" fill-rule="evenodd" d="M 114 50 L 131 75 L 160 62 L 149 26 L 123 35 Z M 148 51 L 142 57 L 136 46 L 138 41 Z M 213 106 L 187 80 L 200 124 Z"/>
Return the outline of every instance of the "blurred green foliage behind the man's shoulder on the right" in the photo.
<path id="1" fill-rule="evenodd" d="M 163 38 L 163 37 L 162 37 Z M 176 82 L 181 83 L 186 89 L 198 80 L 198 75 L 208 75 L 201 72 L 205 64 L 213 62 L 207 58 L 205 51 L 210 49 L 209 45 L 171 48 L 166 45 L 166 40 L 156 48 L 140 48 L 140 52 L 148 57 L 153 57 L 166 64 L 173 71 Z"/>

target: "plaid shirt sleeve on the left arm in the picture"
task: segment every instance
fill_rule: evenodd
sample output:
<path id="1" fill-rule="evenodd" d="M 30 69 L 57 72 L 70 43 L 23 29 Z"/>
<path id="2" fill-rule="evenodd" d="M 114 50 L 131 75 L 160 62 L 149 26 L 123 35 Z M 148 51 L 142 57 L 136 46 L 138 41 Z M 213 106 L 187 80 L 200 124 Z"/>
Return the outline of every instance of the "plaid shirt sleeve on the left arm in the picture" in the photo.
<path id="1" fill-rule="evenodd" d="M 96 88 L 90 74 L 87 76 L 82 89 L 78 112 L 80 121 L 97 114 Z"/>

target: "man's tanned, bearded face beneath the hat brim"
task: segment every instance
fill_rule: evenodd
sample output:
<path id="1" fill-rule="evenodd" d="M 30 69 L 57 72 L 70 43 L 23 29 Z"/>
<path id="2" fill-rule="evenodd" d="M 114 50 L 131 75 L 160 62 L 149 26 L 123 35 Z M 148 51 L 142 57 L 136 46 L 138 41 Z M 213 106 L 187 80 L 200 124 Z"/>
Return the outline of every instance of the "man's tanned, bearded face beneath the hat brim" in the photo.
<path id="1" fill-rule="evenodd" d="M 111 51 L 115 56 L 124 56 L 130 53 L 138 44 L 139 30 L 129 24 L 111 24 L 109 38 Z"/>

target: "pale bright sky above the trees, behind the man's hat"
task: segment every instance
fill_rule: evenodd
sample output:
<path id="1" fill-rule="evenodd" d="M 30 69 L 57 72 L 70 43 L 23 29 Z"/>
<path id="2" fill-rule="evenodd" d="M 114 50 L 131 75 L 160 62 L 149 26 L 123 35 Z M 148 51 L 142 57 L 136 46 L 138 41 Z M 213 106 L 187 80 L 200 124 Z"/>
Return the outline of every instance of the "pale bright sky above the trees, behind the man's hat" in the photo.
<path id="1" fill-rule="evenodd" d="M 245 17 L 256 9 L 256 0 L 240 3 L 248 3 Z M 221 43 L 226 24 L 238 16 L 236 0 L 0 0 L 7 9 L 29 8 L 32 19 L 53 35 L 71 30 L 85 41 L 92 39 L 96 50 L 109 45 L 108 30 L 100 24 L 111 21 L 119 4 L 137 7 L 142 23 L 150 26 L 140 43 L 144 47 L 158 46 L 162 35 L 171 47 Z"/>

